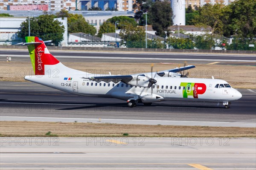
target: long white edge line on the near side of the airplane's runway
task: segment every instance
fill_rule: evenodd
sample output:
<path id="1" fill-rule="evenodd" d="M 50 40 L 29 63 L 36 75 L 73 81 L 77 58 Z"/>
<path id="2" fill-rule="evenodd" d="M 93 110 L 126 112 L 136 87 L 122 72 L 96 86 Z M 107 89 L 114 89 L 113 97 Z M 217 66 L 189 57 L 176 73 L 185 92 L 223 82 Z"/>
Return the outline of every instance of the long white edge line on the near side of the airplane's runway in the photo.
<path id="1" fill-rule="evenodd" d="M 38 119 L 78 119 L 78 120 L 99 120 L 92 118 L 67 118 L 67 117 L 28 117 L 28 116 L 0 116 L 0 118 L 9 117 L 9 118 L 38 118 Z M 176 120 L 139 120 L 139 119 L 101 119 L 101 120 L 117 120 L 117 121 L 148 121 L 148 122 L 194 122 L 194 123 L 202 123 L 199 121 L 176 121 Z M 256 123 L 248 123 L 248 122 L 203 122 L 203 123 L 243 123 L 243 124 L 256 124 Z"/>

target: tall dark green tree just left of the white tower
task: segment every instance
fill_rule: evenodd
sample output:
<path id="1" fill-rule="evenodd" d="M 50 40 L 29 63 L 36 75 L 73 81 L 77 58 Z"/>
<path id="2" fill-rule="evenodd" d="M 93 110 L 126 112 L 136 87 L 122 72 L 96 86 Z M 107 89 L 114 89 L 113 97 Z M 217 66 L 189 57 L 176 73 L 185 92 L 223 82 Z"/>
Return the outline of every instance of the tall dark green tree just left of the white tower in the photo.
<path id="1" fill-rule="evenodd" d="M 159 10 L 161 9 L 161 10 Z M 173 25 L 172 22 L 172 8 L 171 4 L 167 0 L 156 1 L 150 8 L 150 20 L 152 28 L 157 31 L 156 34 L 161 37 L 166 37 L 164 31 L 167 31 L 167 36 L 170 34 L 169 26 Z"/>

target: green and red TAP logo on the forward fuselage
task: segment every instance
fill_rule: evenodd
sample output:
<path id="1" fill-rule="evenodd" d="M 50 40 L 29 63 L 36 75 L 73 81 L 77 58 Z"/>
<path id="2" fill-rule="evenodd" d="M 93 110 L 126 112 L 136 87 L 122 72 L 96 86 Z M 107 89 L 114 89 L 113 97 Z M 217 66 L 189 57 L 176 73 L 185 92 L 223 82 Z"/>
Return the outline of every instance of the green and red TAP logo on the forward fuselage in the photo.
<path id="1" fill-rule="evenodd" d="M 180 86 L 185 87 L 182 91 L 183 98 L 188 98 L 188 96 L 198 98 L 199 94 L 204 94 L 206 91 L 206 85 L 204 83 L 181 82 Z"/>

